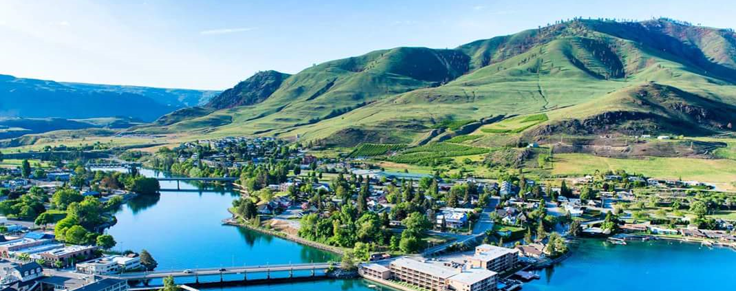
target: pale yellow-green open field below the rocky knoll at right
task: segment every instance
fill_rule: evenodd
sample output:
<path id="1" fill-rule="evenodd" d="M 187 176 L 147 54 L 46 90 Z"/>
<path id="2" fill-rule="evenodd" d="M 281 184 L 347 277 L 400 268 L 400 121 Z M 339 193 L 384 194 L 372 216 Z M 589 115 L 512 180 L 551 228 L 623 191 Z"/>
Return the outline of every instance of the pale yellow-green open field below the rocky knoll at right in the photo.
<path id="1" fill-rule="evenodd" d="M 556 154 L 553 174 L 581 176 L 595 170 L 626 170 L 662 179 L 729 184 L 736 181 L 736 161 L 730 159 L 658 158 L 614 159 L 590 154 Z"/>

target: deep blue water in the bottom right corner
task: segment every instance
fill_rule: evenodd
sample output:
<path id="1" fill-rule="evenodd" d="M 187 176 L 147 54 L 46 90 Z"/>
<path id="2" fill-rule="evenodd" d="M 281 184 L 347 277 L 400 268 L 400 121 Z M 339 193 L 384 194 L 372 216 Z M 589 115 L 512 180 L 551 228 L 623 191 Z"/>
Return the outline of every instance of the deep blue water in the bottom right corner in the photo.
<path id="1" fill-rule="evenodd" d="M 673 241 L 582 240 L 525 291 L 736 290 L 736 251 Z"/>

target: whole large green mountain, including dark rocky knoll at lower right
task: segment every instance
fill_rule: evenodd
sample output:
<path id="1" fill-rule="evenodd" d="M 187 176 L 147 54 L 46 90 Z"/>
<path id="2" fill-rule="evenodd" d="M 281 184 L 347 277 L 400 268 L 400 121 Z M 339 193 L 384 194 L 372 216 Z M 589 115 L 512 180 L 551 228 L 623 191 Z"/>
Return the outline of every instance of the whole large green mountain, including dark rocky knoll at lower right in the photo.
<path id="1" fill-rule="evenodd" d="M 559 134 L 707 135 L 732 130 L 735 86 L 732 29 L 575 19 L 453 49 L 392 48 L 291 76 L 261 72 L 205 107 L 135 130 L 299 134 L 334 145 L 470 132 L 505 133 L 478 145 Z M 487 128 L 537 113 L 530 126 Z M 467 126 L 458 132 L 452 123 Z"/>

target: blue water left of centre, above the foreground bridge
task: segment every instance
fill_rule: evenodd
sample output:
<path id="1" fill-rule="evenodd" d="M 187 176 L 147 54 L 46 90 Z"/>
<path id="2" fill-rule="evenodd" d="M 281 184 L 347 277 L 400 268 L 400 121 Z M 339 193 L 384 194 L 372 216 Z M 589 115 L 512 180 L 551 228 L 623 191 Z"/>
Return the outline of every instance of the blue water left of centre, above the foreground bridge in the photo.
<path id="1" fill-rule="evenodd" d="M 146 176 L 155 176 L 143 170 Z M 161 182 L 163 189 L 176 182 Z M 196 190 L 191 184 L 182 189 Z M 327 262 L 337 257 L 237 226 L 223 226 L 227 208 L 238 195 L 232 190 L 162 191 L 130 201 L 116 213 L 118 223 L 108 230 L 116 250 L 146 249 L 158 262 L 157 270 L 232 265 Z"/>

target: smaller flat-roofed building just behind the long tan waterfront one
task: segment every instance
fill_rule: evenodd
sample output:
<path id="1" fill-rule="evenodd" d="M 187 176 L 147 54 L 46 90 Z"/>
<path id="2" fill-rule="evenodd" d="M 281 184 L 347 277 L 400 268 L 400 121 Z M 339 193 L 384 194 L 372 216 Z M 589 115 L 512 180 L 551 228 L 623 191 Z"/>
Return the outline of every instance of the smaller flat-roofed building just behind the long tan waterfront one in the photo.
<path id="1" fill-rule="evenodd" d="M 503 273 L 512 270 L 519 262 L 519 250 L 502 248 L 495 245 L 478 245 L 473 256 L 465 256 L 471 267 L 481 267 L 486 270 Z"/>

